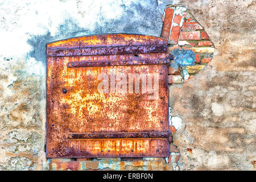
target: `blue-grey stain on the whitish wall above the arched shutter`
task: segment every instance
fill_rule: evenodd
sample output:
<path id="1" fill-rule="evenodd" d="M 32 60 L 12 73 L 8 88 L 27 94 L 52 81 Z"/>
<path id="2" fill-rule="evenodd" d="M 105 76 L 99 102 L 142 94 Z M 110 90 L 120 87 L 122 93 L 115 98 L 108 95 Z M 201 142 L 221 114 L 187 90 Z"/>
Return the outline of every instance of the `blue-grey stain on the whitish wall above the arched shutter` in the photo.
<path id="1" fill-rule="evenodd" d="M 171 3 L 172 1 L 168 1 Z M 112 2 L 110 2 L 111 4 Z M 90 6 L 98 6 L 92 3 Z M 161 4 L 163 6 L 163 3 Z M 164 3 L 166 5 L 166 3 Z M 90 12 L 90 6 L 85 7 Z M 52 34 L 48 30 L 43 35 L 30 35 L 27 40 L 28 44 L 32 46 L 32 50 L 27 57 L 34 57 L 36 61 L 46 62 L 46 44 L 56 40 L 72 38 L 75 36 L 85 36 L 93 34 L 143 34 L 160 36 L 162 31 L 162 6 L 158 5 L 155 0 L 141 0 L 141 1 L 124 1 L 119 4 L 123 14 L 114 19 L 106 18 L 106 10 L 104 7 L 98 12 L 97 20 L 94 20 L 90 26 L 81 26 L 76 16 L 72 14 L 65 14 L 64 22 L 60 20 L 58 31 Z M 69 12 L 67 10 L 67 12 Z M 117 14 L 116 12 L 112 12 Z M 94 16 L 86 16 L 86 19 L 94 19 Z M 93 22 L 93 20 L 92 20 Z"/>

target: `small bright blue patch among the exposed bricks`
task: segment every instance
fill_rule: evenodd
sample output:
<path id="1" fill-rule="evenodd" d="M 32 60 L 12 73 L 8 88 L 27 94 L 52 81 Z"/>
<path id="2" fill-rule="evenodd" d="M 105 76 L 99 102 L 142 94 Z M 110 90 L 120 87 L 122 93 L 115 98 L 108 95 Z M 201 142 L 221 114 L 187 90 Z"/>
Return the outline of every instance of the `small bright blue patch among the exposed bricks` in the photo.
<path id="1" fill-rule="evenodd" d="M 171 51 L 171 54 L 174 55 L 174 64 L 171 64 L 171 67 L 177 69 L 177 66 L 187 67 L 188 65 L 195 65 L 196 55 L 192 50 L 179 49 L 176 48 Z"/>

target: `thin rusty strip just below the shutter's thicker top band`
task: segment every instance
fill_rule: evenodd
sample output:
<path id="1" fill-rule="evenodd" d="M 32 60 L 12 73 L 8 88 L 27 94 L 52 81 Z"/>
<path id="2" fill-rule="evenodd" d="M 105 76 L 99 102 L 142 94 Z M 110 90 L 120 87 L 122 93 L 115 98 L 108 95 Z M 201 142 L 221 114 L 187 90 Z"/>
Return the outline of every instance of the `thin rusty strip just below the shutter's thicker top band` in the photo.
<path id="1" fill-rule="evenodd" d="M 82 61 L 68 63 L 68 68 L 76 67 L 106 67 L 106 66 L 118 66 L 118 65 L 143 65 L 143 64 L 166 64 L 170 63 L 170 60 L 158 59 L 158 60 L 129 60 L 129 61 Z"/>

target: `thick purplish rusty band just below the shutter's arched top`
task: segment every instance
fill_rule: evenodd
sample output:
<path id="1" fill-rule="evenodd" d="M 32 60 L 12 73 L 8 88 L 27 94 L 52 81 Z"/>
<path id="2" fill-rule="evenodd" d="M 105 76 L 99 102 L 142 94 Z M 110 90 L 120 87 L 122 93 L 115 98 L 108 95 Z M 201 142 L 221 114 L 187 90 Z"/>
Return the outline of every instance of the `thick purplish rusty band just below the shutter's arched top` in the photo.
<path id="1" fill-rule="evenodd" d="M 49 49 L 47 56 L 89 56 L 89 55 L 122 55 L 127 53 L 157 53 L 167 52 L 167 45 L 143 46 L 109 46 L 109 47 L 83 47 L 72 49 Z"/>

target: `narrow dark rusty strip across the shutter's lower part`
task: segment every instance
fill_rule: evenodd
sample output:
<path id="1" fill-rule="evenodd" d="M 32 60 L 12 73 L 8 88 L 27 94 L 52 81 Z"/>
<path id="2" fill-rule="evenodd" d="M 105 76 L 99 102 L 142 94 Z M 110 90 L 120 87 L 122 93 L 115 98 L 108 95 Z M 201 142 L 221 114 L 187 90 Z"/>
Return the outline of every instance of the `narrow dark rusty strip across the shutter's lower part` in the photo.
<path id="1" fill-rule="evenodd" d="M 91 139 L 91 138 L 168 138 L 169 132 L 142 132 L 142 133 L 72 133 L 68 139 Z"/>

